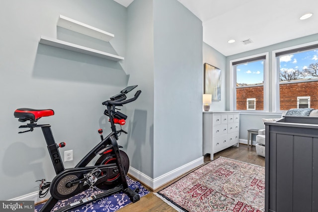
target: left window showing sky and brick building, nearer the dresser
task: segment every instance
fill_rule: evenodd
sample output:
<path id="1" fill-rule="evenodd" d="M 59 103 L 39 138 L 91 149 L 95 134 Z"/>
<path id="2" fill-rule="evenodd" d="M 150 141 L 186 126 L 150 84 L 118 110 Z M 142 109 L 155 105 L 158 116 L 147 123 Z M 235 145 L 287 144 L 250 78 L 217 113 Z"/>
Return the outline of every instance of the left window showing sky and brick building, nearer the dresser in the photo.
<path id="1" fill-rule="evenodd" d="M 267 54 L 233 61 L 233 96 L 235 110 L 265 110 L 265 68 Z"/>

